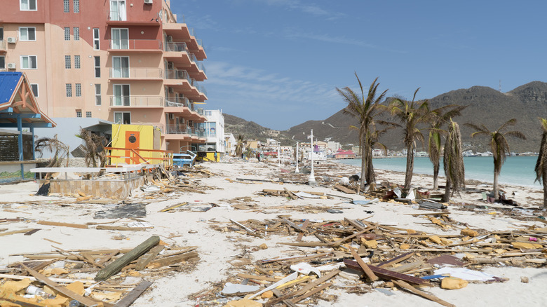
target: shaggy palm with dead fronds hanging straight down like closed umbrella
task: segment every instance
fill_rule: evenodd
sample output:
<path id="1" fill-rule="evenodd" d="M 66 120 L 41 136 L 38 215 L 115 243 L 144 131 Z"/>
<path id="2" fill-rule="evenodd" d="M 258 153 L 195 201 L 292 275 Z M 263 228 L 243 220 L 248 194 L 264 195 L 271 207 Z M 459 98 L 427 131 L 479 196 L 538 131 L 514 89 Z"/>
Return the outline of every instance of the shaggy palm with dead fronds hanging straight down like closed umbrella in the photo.
<path id="1" fill-rule="evenodd" d="M 464 156 L 461 155 L 461 133 L 459 132 L 459 125 L 452 119 L 448 125 L 443 166 L 446 175 L 445 197 L 443 200 L 448 202 L 452 193 L 459 191 L 461 186 L 465 186 Z"/>

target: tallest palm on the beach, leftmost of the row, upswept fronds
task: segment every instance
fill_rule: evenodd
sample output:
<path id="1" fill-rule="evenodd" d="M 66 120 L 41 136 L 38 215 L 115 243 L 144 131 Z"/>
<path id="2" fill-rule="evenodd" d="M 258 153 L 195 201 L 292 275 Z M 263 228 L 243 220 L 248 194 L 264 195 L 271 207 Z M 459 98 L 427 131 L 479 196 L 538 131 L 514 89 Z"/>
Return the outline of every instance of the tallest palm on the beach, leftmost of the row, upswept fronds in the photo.
<path id="1" fill-rule="evenodd" d="M 344 114 L 351 114 L 355 116 L 359 121 L 359 152 L 361 154 L 361 177 L 360 177 L 360 189 L 365 189 L 365 176 L 368 174 L 367 168 L 369 164 L 372 165 L 372 150 L 370 150 L 370 129 L 374 123 L 374 117 L 377 116 L 381 109 L 379 105 L 381 100 L 384 99 L 387 90 L 377 96 L 377 89 L 380 83 L 377 83 L 378 77 L 372 81 L 365 97 L 365 91 L 363 90 L 363 84 L 359 80 L 357 73 L 355 73 L 357 81 L 359 83 L 360 95 L 354 92 L 346 86 L 345 88 L 336 88 L 338 93 L 344 97 L 344 101 L 348 104 L 344 108 Z M 371 160 L 371 161 L 369 161 Z M 368 182 L 371 184 L 372 182 Z"/>

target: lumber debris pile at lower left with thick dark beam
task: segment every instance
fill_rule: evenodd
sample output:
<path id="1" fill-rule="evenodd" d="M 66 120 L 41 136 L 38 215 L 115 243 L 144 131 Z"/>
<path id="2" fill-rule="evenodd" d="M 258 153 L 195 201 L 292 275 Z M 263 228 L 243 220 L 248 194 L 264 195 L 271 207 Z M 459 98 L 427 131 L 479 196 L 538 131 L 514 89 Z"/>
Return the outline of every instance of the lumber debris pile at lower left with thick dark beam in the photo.
<path id="1" fill-rule="evenodd" d="M 189 272 L 198 261 L 197 247 L 168 246 L 158 236 L 130 250 L 52 247 L 10 255 L 25 261 L 0 267 L 0 306 L 130 306 L 150 280 Z"/>

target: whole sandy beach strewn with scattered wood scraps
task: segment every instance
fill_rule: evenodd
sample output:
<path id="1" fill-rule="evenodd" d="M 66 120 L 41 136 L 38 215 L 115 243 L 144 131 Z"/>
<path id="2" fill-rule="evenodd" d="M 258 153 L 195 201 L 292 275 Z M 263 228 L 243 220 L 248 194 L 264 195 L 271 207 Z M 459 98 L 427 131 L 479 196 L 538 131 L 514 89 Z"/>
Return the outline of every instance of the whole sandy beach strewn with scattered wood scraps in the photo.
<path id="1" fill-rule="evenodd" d="M 547 269 L 544 264 L 524 261 L 524 259 L 545 259 L 546 249 L 544 247 L 547 241 L 545 234 L 541 235 L 541 232 L 547 234 L 547 231 L 541 230 L 541 228 L 546 227 L 547 224 L 536 219 L 536 217 L 546 214 L 544 210 L 541 210 L 543 191 L 516 185 L 501 185 L 500 187 L 506 191 L 506 195 L 518 203 L 518 207 L 515 209 L 515 206 L 486 203 L 482 200 L 482 191 L 488 191 L 492 189 L 492 186 L 481 182 L 468 182 L 466 191 L 454 196 L 447 204 L 448 208 L 445 212 L 448 212 L 447 216 L 450 217 L 450 227 L 440 227 L 438 224 L 433 224 L 428 217 L 419 214 L 432 210 L 419 209 L 415 203 L 405 204 L 393 202 L 393 200 L 390 202 L 379 201 L 369 205 L 349 203 L 345 198 L 370 199 L 370 197 L 363 195 L 345 194 L 332 188 L 332 185 L 338 182 L 341 177 L 358 172 L 357 168 L 350 165 L 333 162 L 318 165 L 315 169 L 318 183 L 316 186 L 305 184 L 309 175 L 293 174 L 294 165 L 282 165 L 280 168 L 276 163 L 257 163 L 256 160 L 241 161 L 241 159 L 227 158 L 220 163 L 204 163 L 198 168 L 207 170 L 211 175 L 189 174 L 186 179 L 189 180 L 191 186 L 196 188 L 195 191 L 171 189 L 172 191 L 167 190 L 162 193 L 144 193 L 135 190 L 132 198 L 126 200 L 126 203 L 147 204 L 145 206 L 146 217 L 142 217 L 140 220 L 149 223 L 151 228 L 144 231 L 98 230 L 95 228 L 95 225 L 99 223 L 126 226 L 128 222 L 134 221 L 132 219 L 95 218 L 97 212 L 112 209 L 116 203 L 119 203 L 116 200 L 112 200 L 110 203 L 104 200 L 97 202 L 94 200 L 100 196 L 94 196 L 91 200 L 76 203 L 76 198 L 69 196 L 35 196 L 38 186 L 34 182 L 0 185 L 0 219 L 24 219 L 23 221 L 0 223 L 0 228 L 5 228 L 0 232 L 0 268 L 6 268 L 18 261 L 25 261 L 23 254 L 52 252 L 58 247 L 67 251 L 132 249 L 150 236 L 159 236 L 162 242 L 169 247 L 178 249 L 196 247 L 198 259 L 189 260 L 187 264 L 177 268 L 163 270 L 163 273 L 158 273 L 158 271 L 150 273 L 144 270 L 140 273 L 128 274 L 122 271 L 112 279 L 116 282 L 126 282 L 128 285 L 135 285 L 141 278 L 154 282 L 132 306 L 205 306 L 203 303 L 196 305 L 196 301 L 198 299 L 210 301 L 228 281 L 242 282 L 244 278 L 239 278 L 238 274 L 259 275 L 260 273 L 255 270 L 255 265 L 260 260 L 332 252 L 332 250 L 325 251 L 325 249 L 313 247 L 281 244 L 295 243 L 297 233 L 280 235 L 266 232 L 260 234 L 261 238 L 249 236 L 231 223 L 230 219 L 241 223 L 248 220 L 290 219 L 300 221 L 297 224 L 302 224 L 306 219 L 343 221 L 346 218 L 363 220 L 386 227 L 412 229 L 417 233 L 427 233 L 432 236 L 458 236 L 464 228 L 478 231 L 480 234 L 509 231 L 515 234 L 515 240 L 520 236 L 518 233 L 534 230 L 537 235 L 534 237 L 537 238 L 534 243 L 543 245 L 543 247 L 534 248 L 534 250 L 515 250 L 510 243 L 496 243 L 499 245 L 494 246 L 495 242 L 491 241 L 482 242 L 485 245 L 478 245 L 481 243 L 480 240 L 475 245 L 444 246 L 444 252 L 435 252 L 434 254 L 428 254 L 426 250 L 432 247 L 425 245 L 415 246 L 410 250 L 414 252 L 412 258 L 414 261 L 426 260 L 428 257 L 443 254 L 468 254 L 468 257 L 465 257 L 463 261 L 493 257 L 492 254 L 497 253 L 494 250 L 498 248 L 505 249 L 506 252 L 518 253 L 521 257 L 520 262 L 502 261 L 496 264 L 470 267 L 473 270 L 504 279 L 503 282 L 469 282 L 462 289 L 441 289 L 438 282 L 432 282 L 431 287 L 424 287 L 422 290 L 459 307 L 545 306 L 543 290 L 547 285 Z M 259 181 L 242 179 L 258 179 Z M 285 183 L 277 182 L 279 179 L 283 179 Z M 377 182 L 403 184 L 404 174 L 378 170 Z M 444 184 L 444 178 L 440 179 L 440 184 Z M 424 191 L 432 189 L 433 179 L 427 175 L 414 175 L 413 186 Z M 263 194 L 260 192 L 265 189 L 324 193 L 325 196 L 332 195 L 330 197 L 332 199 L 305 197 L 290 199 L 281 196 L 260 195 Z M 166 207 L 180 203 L 187 203 L 187 205 L 167 212 L 160 212 Z M 341 213 L 330 213 L 327 212 L 328 209 L 337 209 Z M 39 221 L 88 224 L 89 227 L 48 226 L 37 224 Z M 1 233 L 27 228 L 40 228 L 41 230 L 33 233 L 32 236 L 24 236 L 23 233 L 1 236 Z M 290 227 L 287 226 L 287 228 Z M 52 243 L 52 241 L 59 244 Z M 303 236 L 302 242 L 317 243 L 320 241 L 316 236 L 307 233 Z M 484 252 L 485 246 L 492 246 L 492 251 Z M 419 252 L 422 247 L 424 252 Z M 460 247 L 466 250 L 480 248 L 482 252 L 461 252 Z M 385 241 L 379 241 L 375 253 L 381 255 L 391 248 Z M 408 252 L 399 250 L 401 248 L 399 244 L 393 248 L 400 254 Z M 500 257 L 503 257 L 503 253 L 498 252 Z M 377 260 L 372 257 L 370 261 L 374 263 Z M 313 266 L 318 266 L 318 264 Z M 341 270 L 345 269 L 341 268 Z M 272 269 L 266 273 L 271 274 L 271 277 L 276 275 L 284 277 L 286 274 L 281 272 L 282 270 Z M 58 277 L 85 280 L 93 279 L 95 274 L 96 272 L 84 270 Z M 525 280 L 527 282 L 523 282 Z M 372 282 L 359 279 L 358 275 L 351 272 L 340 273 L 329 282 L 332 283 L 330 287 L 316 296 L 311 296 L 311 301 L 303 300 L 298 305 L 440 306 L 439 303 L 424 299 L 424 297 L 407 292 L 400 287 L 385 287 L 385 285 L 377 284 L 377 288 L 386 289 L 388 293 L 377 291 L 372 286 Z M 267 282 L 265 284 L 269 285 Z M 255 283 L 250 282 L 249 285 L 255 285 Z M 263 289 L 264 285 L 261 287 Z M 229 296 L 229 299 L 236 299 L 236 296 Z M 267 299 L 260 297 L 257 299 L 259 303 L 266 301 Z M 210 306 L 223 305 L 224 303 Z M 277 306 L 283 306 L 283 304 Z"/>

